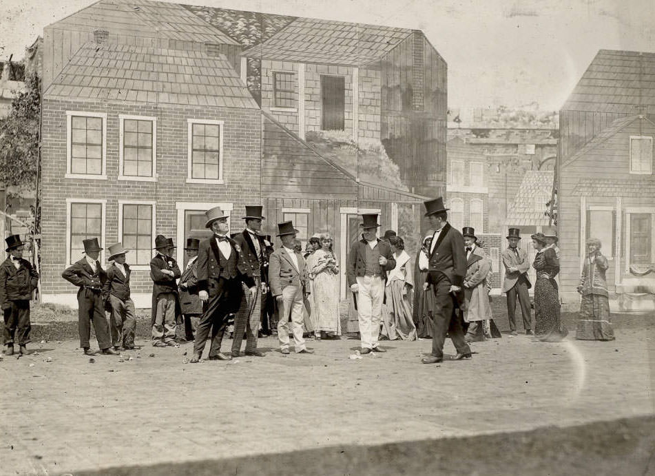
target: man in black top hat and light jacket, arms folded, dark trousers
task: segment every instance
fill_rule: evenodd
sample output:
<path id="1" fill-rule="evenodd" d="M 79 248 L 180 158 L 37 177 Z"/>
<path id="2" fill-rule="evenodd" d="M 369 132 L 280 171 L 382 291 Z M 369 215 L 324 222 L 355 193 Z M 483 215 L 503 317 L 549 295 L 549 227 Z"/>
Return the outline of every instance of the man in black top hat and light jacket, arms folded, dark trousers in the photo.
<path id="1" fill-rule="evenodd" d="M 526 329 L 526 335 L 532 333 L 532 318 L 530 316 L 530 295 L 528 289 L 532 287 L 528 279 L 528 269 L 530 269 L 530 260 L 528 252 L 519 248 L 521 240 L 521 230 L 510 228 L 507 235 L 508 247 L 503 251 L 503 266 L 505 267 L 505 280 L 503 280 L 502 292 L 507 296 L 507 316 L 510 321 L 510 333 L 517 335 L 517 298 L 521 305 L 521 315 L 523 316 L 523 329 Z"/>

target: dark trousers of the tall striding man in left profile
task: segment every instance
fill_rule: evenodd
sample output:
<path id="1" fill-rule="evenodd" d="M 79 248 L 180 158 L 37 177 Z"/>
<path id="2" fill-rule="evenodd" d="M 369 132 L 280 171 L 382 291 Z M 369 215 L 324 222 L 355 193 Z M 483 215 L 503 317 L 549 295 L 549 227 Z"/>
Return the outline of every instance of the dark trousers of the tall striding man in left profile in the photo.
<path id="1" fill-rule="evenodd" d="M 444 357 L 444 342 L 446 333 L 455 344 L 458 353 L 470 353 L 471 349 L 464 339 L 461 318 L 455 315 L 455 298 L 448 291 L 450 281 L 441 277 L 435 288 L 435 335 L 432 338 L 432 355 Z"/>

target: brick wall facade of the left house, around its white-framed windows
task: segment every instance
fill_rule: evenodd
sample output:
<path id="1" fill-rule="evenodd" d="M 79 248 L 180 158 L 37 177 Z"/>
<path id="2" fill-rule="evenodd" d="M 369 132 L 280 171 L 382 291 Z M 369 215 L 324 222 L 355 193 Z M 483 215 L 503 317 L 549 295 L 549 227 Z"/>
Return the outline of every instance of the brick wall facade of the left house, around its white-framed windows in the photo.
<path id="1" fill-rule="evenodd" d="M 65 178 L 66 111 L 107 114 L 107 180 Z M 118 114 L 157 118 L 156 182 L 118 180 Z M 223 131 L 224 184 L 186 183 L 187 119 L 225 121 Z M 232 227 L 242 226 L 244 205 L 261 202 L 261 118 L 259 110 L 103 104 L 44 99 L 43 101 L 43 202 L 42 202 L 42 293 L 74 293 L 76 289 L 61 278 L 66 266 L 67 198 L 106 200 L 105 249 L 118 238 L 118 200 L 155 200 L 155 234 L 176 239 L 176 202 L 233 203 Z M 180 246 L 180 243 L 178 243 Z M 72 256 L 71 260 L 79 259 Z M 129 262 L 129 255 L 128 255 Z M 132 293 L 149 293 L 148 271 L 134 271 Z"/>

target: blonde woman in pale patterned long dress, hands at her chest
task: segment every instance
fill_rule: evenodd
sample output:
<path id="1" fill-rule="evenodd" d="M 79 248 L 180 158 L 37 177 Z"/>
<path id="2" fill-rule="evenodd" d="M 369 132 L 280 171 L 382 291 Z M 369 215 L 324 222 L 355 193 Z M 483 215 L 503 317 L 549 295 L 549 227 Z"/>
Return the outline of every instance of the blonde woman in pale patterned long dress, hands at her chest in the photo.
<path id="1" fill-rule="evenodd" d="M 332 251 L 329 234 L 320 236 L 320 248 L 308 260 L 307 269 L 312 279 L 312 321 L 316 339 L 338 339 L 341 335 L 339 314 L 339 265 Z"/>

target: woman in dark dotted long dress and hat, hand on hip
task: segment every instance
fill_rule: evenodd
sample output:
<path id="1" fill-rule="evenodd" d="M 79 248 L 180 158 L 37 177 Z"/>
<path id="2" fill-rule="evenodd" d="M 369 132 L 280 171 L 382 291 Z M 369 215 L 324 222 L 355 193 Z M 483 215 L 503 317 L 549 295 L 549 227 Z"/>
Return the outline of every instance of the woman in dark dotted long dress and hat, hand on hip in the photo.
<path id="1" fill-rule="evenodd" d="M 555 237 L 557 239 L 557 237 Z M 537 250 L 532 267 L 537 271 L 534 283 L 534 333 L 541 342 L 559 342 L 568 333 L 561 323 L 561 304 L 555 276 L 559 273 L 559 250 L 545 235 L 532 235 Z"/>

